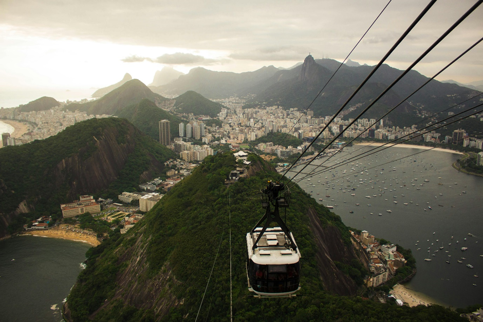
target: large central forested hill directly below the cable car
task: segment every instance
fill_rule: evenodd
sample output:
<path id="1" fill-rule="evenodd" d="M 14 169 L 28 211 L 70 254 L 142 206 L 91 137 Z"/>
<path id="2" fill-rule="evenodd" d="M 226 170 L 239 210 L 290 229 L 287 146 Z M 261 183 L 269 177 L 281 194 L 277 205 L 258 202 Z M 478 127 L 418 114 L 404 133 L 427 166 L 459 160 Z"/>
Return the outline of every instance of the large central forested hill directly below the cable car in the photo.
<path id="1" fill-rule="evenodd" d="M 302 289 L 292 299 L 253 298 L 246 234 L 264 213 L 259 189 L 278 175 L 259 157 L 249 159 L 249 177 L 226 187 L 233 154 L 208 156 L 127 234 L 91 248 L 67 298 L 67 319 L 226 321 L 230 266 L 237 321 L 459 319 L 438 306 L 411 309 L 354 297 L 365 272 L 361 253 L 340 217 L 297 186 L 286 218 L 302 254 Z"/>

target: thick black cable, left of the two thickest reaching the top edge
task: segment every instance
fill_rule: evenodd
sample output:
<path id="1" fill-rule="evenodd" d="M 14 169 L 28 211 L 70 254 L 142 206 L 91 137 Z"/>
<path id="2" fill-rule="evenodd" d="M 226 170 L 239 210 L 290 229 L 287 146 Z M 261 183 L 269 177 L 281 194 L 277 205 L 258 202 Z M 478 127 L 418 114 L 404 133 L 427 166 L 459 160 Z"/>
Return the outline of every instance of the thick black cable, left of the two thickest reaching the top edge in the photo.
<path id="1" fill-rule="evenodd" d="M 431 7 L 436 3 L 437 0 L 431 0 L 431 2 L 423 9 L 423 11 L 416 17 L 416 19 L 413 21 L 413 23 L 404 31 L 404 33 L 399 37 L 399 39 L 396 41 L 396 43 L 387 51 L 387 53 L 384 55 L 384 57 L 379 61 L 379 63 L 373 68 L 373 70 L 370 71 L 369 75 L 366 76 L 366 78 L 362 81 L 362 83 L 356 88 L 354 93 L 350 95 L 350 97 L 347 99 L 347 101 L 341 106 L 341 108 L 332 116 L 329 122 L 327 122 L 326 126 L 320 131 L 320 133 L 310 142 L 310 144 L 305 148 L 305 150 L 300 154 L 300 156 L 295 160 L 295 162 L 287 169 L 287 171 L 282 175 L 284 177 L 288 171 L 296 164 L 299 159 L 307 152 L 307 150 L 312 146 L 312 144 L 321 136 L 321 134 L 327 129 L 329 124 L 339 115 L 342 110 L 345 108 L 345 106 L 349 103 L 349 101 L 356 96 L 356 94 L 361 90 L 362 86 L 369 80 L 371 76 L 376 73 L 376 71 L 381 67 L 381 65 L 384 63 L 384 61 L 393 53 L 393 51 L 399 46 L 399 44 L 406 38 L 406 36 L 413 30 L 413 28 L 421 21 L 422 17 L 431 9 Z M 483 0 L 480 0 L 483 1 Z M 290 182 L 290 180 L 289 180 Z"/>

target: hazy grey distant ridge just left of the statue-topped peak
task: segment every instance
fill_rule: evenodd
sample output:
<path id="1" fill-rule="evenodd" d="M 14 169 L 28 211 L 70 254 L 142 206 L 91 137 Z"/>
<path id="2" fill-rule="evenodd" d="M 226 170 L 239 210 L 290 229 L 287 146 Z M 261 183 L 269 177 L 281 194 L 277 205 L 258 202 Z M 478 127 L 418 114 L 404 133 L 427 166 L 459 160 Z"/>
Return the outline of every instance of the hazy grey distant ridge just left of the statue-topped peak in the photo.
<path id="1" fill-rule="evenodd" d="M 268 66 L 236 74 L 197 67 L 169 84 L 152 89 L 153 92 L 166 96 L 177 96 L 187 91 L 195 91 L 210 99 L 227 98 L 245 92 L 248 88 L 273 76 L 277 70 L 273 66 Z"/>

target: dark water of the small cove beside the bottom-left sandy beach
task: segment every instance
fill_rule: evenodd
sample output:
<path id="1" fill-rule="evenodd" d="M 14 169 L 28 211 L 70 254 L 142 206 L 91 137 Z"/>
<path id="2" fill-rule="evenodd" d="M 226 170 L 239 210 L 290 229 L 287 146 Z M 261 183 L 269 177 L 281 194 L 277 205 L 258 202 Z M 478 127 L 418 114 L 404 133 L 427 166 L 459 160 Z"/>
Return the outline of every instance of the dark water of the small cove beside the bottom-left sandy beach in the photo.
<path id="1" fill-rule="evenodd" d="M 0 241 L 0 320 L 61 321 L 89 247 L 33 236 Z"/>

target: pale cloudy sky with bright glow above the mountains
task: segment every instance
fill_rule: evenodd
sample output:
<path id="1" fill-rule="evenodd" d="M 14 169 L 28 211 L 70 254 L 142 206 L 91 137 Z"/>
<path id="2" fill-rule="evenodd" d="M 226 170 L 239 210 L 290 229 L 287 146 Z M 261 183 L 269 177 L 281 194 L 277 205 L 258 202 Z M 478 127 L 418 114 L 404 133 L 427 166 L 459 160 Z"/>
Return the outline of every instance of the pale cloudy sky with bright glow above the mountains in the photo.
<path id="1" fill-rule="evenodd" d="M 0 0 L 0 106 L 91 94 L 125 73 L 149 84 L 164 66 L 241 73 L 309 52 L 341 61 L 387 1 Z M 405 69 L 475 2 L 439 0 L 387 63 Z M 393 0 L 350 59 L 376 64 L 428 3 Z M 432 76 L 482 36 L 480 6 L 415 69 Z M 482 48 L 438 79 L 482 80 Z"/>

